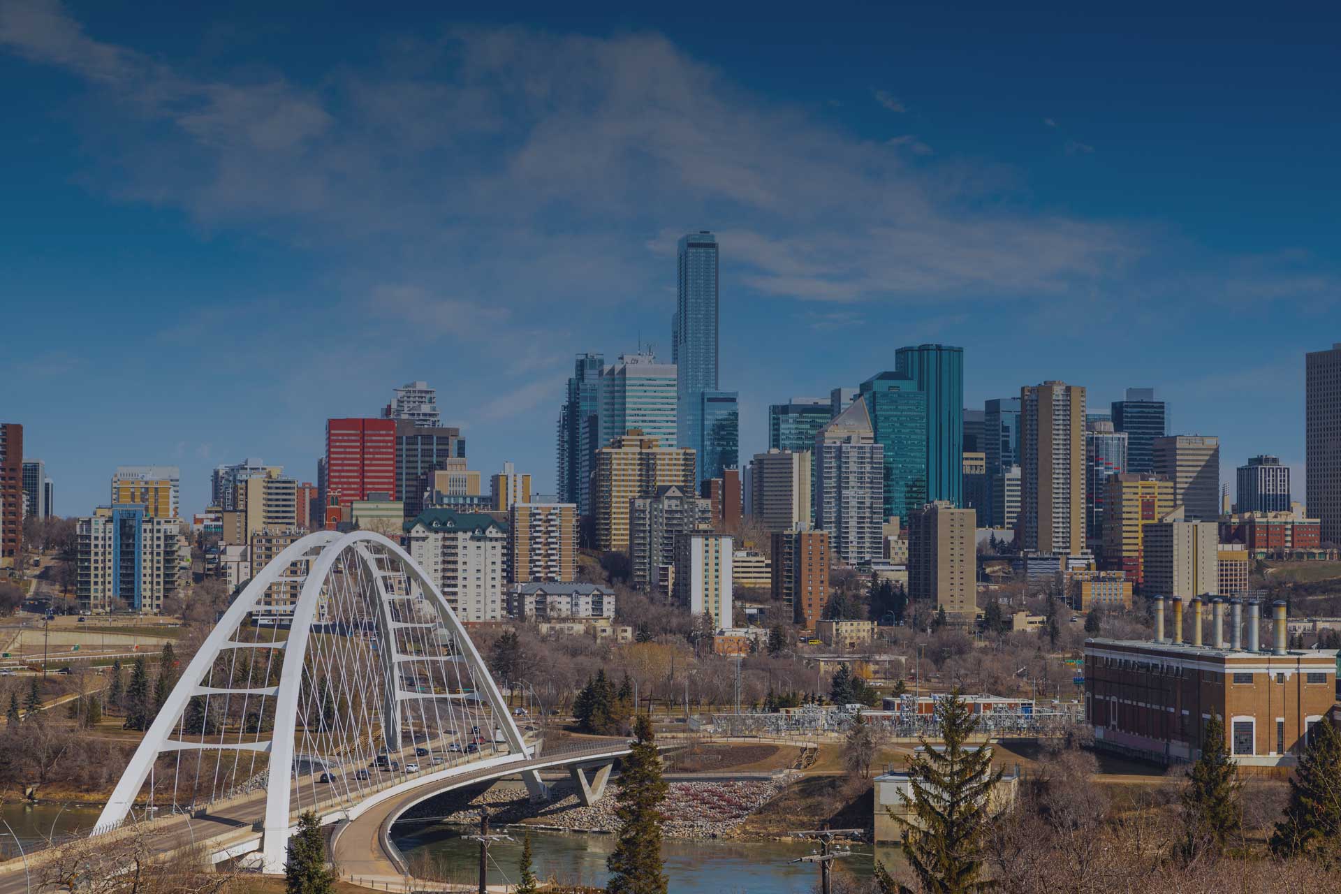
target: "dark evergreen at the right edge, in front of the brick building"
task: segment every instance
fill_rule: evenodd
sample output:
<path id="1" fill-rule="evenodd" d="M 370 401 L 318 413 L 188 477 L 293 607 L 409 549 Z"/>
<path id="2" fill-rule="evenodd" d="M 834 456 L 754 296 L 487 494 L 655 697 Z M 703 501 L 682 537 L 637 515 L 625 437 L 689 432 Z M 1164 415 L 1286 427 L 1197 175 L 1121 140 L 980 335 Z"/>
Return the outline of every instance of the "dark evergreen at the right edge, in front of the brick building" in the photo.
<path id="1" fill-rule="evenodd" d="M 1290 777 L 1290 802 L 1271 835 L 1271 852 L 1306 854 L 1337 832 L 1341 832 L 1341 735 L 1321 720 L 1309 728 L 1309 747 Z"/>

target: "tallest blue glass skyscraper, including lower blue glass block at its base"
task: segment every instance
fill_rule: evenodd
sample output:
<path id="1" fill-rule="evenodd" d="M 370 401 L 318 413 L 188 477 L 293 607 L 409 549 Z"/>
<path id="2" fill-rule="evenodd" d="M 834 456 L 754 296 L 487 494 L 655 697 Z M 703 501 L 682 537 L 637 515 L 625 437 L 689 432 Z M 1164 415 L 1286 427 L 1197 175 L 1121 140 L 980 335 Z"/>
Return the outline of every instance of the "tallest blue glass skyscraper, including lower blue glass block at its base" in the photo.
<path id="1" fill-rule="evenodd" d="M 676 311 L 670 323 L 676 365 L 675 446 L 697 452 L 701 484 L 721 477 L 721 464 L 739 452 L 740 437 L 739 416 L 734 409 L 738 394 L 719 390 L 717 379 L 717 237 L 708 231 L 683 236 L 676 267 Z M 708 394 L 711 401 L 705 399 Z"/>

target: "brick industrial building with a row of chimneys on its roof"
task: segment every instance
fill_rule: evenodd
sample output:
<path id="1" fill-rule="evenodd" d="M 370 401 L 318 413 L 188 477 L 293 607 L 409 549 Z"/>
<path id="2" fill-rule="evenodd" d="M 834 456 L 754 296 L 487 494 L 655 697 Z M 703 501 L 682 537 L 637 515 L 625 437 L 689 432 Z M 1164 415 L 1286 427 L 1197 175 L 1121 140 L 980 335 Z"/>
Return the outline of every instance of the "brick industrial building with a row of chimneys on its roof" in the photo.
<path id="1" fill-rule="evenodd" d="M 1234 760 L 1293 765 L 1309 728 L 1325 721 L 1336 702 L 1336 653 L 1286 649 L 1281 602 L 1270 649 L 1259 647 L 1259 603 L 1238 599 L 1211 602 L 1208 634 L 1203 603 L 1192 599 L 1184 641 L 1183 603 L 1169 602 L 1168 638 L 1157 596 L 1153 641 L 1085 642 L 1085 717 L 1096 745 L 1161 763 L 1191 761 L 1200 755 L 1206 721 L 1219 716 Z"/>

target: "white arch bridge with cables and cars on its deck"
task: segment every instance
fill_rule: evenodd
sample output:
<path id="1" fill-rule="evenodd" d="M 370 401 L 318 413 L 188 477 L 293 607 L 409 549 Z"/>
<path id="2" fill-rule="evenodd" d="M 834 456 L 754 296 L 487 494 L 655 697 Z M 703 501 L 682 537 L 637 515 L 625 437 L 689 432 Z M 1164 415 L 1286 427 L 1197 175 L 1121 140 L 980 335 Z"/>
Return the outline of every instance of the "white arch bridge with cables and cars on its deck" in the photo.
<path id="1" fill-rule="evenodd" d="M 516 772 L 539 797 L 538 769 L 557 765 L 573 768 L 589 800 L 606 773 L 593 791 L 581 768 L 622 753 L 626 741 L 606 740 L 540 759 L 535 730 L 518 726 L 409 555 L 378 533 L 320 531 L 280 552 L 224 613 L 94 835 L 153 818 L 145 828 L 161 828 L 168 848 L 217 820 L 249 836 L 233 854 L 259 832 L 257 862 L 278 873 L 303 811 L 354 819 L 390 799 Z"/>

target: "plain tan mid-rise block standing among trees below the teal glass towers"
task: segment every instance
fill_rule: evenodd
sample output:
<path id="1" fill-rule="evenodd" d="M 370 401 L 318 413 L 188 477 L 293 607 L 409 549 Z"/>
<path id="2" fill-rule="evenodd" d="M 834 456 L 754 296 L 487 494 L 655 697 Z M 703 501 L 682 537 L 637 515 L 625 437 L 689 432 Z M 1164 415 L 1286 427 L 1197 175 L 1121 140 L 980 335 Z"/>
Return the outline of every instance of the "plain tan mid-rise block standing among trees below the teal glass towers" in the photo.
<path id="1" fill-rule="evenodd" d="M 957 623 L 978 614 L 978 517 L 948 500 L 908 517 L 908 596 L 944 610 Z"/>

